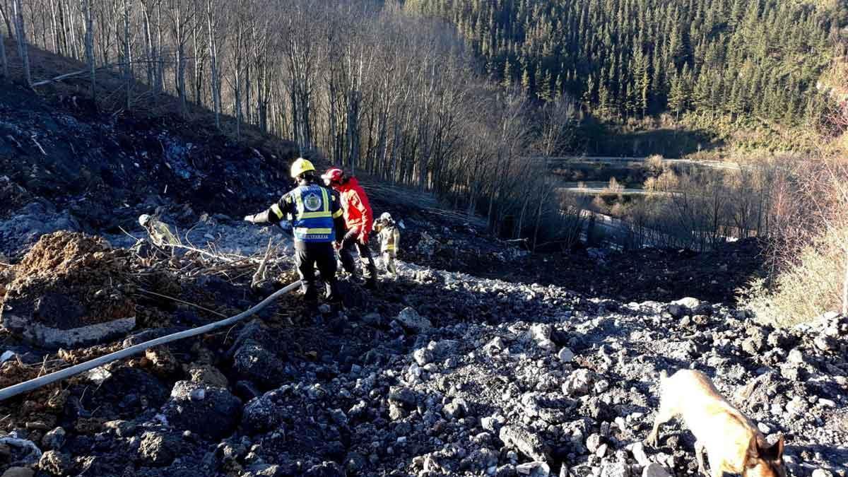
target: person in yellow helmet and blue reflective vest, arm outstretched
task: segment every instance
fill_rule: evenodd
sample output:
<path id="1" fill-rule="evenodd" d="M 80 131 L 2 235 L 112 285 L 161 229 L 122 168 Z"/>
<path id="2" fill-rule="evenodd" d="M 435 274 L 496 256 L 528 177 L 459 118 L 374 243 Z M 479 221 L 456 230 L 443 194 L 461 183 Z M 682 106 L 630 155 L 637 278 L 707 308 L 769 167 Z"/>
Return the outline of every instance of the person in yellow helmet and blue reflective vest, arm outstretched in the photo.
<path id="1" fill-rule="evenodd" d="M 250 223 L 281 222 L 284 217 L 293 217 L 294 261 L 298 274 L 303 280 L 304 298 L 310 311 L 318 308 L 318 291 L 315 288 L 315 266 L 321 272 L 321 280 L 326 283 L 327 299 L 338 305 L 336 281 L 336 252 L 333 242 L 337 235 L 343 234 L 343 210 L 338 193 L 320 185 L 315 176 L 315 166 L 309 160 L 298 158 L 292 164 L 292 177 L 298 187 L 271 205 L 271 208 L 245 216 Z"/>

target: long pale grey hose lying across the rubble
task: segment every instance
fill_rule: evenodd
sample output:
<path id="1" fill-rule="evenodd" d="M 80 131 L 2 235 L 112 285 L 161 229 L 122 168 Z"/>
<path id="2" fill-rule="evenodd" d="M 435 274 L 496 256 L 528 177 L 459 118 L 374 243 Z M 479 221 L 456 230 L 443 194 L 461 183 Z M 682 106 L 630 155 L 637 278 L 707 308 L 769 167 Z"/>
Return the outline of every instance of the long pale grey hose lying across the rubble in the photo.
<path id="1" fill-rule="evenodd" d="M 80 373 L 85 373 L 88 370 L 101 367 L 104 364 L 108 364 L 109 362 L 117 361 L 127 356 L 140 354 L 148 350 L 149 348 L 153 348 L 153 346 L 165 345 L 165 343 L 170 343 L 171 341 L 176 340 L 182 340 L 183 338 L 191 338 L 192 336 L 197 336 L 198 334 L 208 333 L 213 329 L 229 326 L 232 323 L 237 323 L 246 317 L 250 317 L 256 314 L 280 296 L 286 295 L 293 289 L 298 288 L 298 286 L 300 286 L 300 283 L 300 280 L 298 280 L 297 282 L 291 283 L 286 287 L 277 290 L 272 295 L 269 295 L 267 298 L 265 298 L 265 300 L 260 301 L 256 305 L 248 308 L 248 310 L 242 311 L 241 313 L 235 316 L 225 318 L 215 323 L 209 323 L 198 328 L 192 328 L 187 329 L 185 331 L 181 331 L 179 333 L 168 334 L 156 338 L 155 340 L 148 340 L 143 343 L 139 343 L 138 345 L 132 345 L 130 347 L 124 348 L 123 350 L 114 351 L 114 353 L 109 353 L 108 355 L 100 356 L 90 361 L 81 362 L 80 364 L 76 364 L 74 366 L 71 366 L 70 368 L 64 368 L 53 373 L 45 374 L 44 376 L 41 376 L 39 378 L 30 379 L 29 381 L 24 381 L 23 383 L 14 384 L 12 386 L 9 386 L 8 388 L 3 388 L 2 390 L 0 390 L 0 401 L 6 400 L 10 397 L 18 396 L 19 394 L 29 392 L 31 390 L 36 390 L 38 388 L 41 388 L 42 386 L 46 386 L 47 384 L 59 381 L 59 379 L 66 379 Z"/>

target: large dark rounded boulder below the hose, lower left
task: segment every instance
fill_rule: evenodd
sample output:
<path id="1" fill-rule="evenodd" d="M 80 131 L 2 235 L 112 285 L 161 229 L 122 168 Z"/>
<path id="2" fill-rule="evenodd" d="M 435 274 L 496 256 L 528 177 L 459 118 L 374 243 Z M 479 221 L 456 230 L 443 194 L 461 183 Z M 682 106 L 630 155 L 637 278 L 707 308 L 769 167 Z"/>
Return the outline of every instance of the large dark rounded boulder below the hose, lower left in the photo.
<path id="1" fill-rule="evenodd" d="M 192 400 L 192 392 L 204 390 L 204 399 Z M 242 413 L 242 401 L 228 390 L 212 388 L 192 381 L 177 381 L 170 401 L 163 408 L 168 422 L 177 429 L 221 438 L 236 428 Z"/>

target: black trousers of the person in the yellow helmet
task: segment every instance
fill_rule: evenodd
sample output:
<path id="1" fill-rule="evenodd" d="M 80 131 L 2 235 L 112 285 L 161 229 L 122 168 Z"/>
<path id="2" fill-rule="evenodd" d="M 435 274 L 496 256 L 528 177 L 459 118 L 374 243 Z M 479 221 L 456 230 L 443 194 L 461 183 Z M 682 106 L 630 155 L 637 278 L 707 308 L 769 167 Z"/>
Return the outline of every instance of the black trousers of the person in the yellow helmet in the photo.
<path id="1" fill-rule="evenodd" d="M 326 283 L 326 298 L 332 303 L 341 300 L 336 282 L 336 251 L 332 242 L 294 242 L 294 263 L 303 280 L 304 299 L 310 306 L 317 306 L 318 289 L 315 286 L 315 266 L 321 272 L 321 281 Z"/>

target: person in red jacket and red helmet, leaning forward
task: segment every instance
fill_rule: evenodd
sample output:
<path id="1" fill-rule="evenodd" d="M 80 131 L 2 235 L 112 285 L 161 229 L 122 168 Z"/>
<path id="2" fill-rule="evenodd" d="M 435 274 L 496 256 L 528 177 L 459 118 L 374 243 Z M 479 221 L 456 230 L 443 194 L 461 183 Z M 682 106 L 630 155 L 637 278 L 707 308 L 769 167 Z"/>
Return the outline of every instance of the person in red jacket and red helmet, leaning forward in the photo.
<path id="1" fill-rule="evenodd" d="M 351 254 L 354 247 L 360 254 L 362 267 L 365 269 L 365 287 L 375 288 L 377 286 L 377 265 L 371 257 L 368 249 L 368 235 L 374 226 L 374 214 L 371 205 L 368 204 L 368 196 L 360 186 L 356 177 L 348 177 L 338 167 L 328 169 L 323 176 L 324 183 L 338 191 L 342 199 L 344 210 L 344 222 L 347 233 L 341 240 L 339 255 L 342 257 L 344 271 L 356 277 L 354 256 Z"/>

